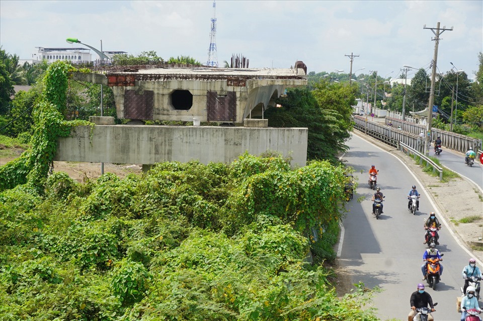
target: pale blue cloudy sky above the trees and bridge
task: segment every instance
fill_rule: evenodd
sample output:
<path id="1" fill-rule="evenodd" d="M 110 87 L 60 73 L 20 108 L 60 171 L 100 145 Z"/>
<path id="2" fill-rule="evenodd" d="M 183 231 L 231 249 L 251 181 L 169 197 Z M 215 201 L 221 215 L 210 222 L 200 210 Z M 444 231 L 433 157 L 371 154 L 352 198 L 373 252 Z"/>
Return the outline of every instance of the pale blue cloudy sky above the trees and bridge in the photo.
<path id="1" fill-rule="evenodd" d="M 0 45 L 28 59 L 35 47 L 69 47 L 68 37 L 104 50 L 164 59 L 208 59 L 212 1 L 7 1 L 0 2 Z M 396 77 L 403 65 L 429 70 L 434 34 L 441 35 L 438 71 L 453 64 L 469 78 L 483 51 L 483 1 L 216 1 L 218 62 L 239 54 L 250 67 L 308 71 L 377 70 Z M 74 46 L 79 46 L 74 44 Z M 93 58 L 97 58 L 93 54 Z M 391 73 L 391 71 L 393 71 Z M 411 78 L 412 71 L 408 72 Z"/>

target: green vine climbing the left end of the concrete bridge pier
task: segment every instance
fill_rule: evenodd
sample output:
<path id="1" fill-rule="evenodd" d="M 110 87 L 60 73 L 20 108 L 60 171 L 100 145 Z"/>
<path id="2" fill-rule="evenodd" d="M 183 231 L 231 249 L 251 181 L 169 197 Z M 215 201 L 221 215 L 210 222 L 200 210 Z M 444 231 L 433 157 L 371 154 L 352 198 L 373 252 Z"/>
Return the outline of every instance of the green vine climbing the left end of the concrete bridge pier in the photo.
<path id="1" fill-rule="evenodd" d="M 57 151 L 57 138 L 67 137 L 73 126 L 93 124 L 88 121 L 66 121 L 66 91 L 69 72 L 76 71 L 64 61 L 52 63 L 46 71 L 42 100 L 33 112 L 34 134 L 32 148 L 12 162 L 0 167 L 0 191 L 27 184 L 41 193 L 43 184 L 53 166 Z"/>

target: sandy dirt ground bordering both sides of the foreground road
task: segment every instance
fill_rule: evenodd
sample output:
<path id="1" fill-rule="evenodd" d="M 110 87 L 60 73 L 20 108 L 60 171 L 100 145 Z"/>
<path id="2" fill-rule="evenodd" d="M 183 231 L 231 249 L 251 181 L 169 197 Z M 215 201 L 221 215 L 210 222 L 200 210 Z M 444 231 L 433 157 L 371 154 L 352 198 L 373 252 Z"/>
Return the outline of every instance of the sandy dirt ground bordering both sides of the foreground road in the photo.
<path id="1" fill-rule="evenodd" d="M 356 130 L 354 132 L 401 159 L 430 193 L 431 199 L 437 206 L 435 212 L 439 212 L 448 225 L 441 222 L 440 218 L 443 228 L 450 228 L 459 242 L 472 253 L 472 256 L 483 261 L 483 242 L 481 240 L 483 237 L 483 195 L 481 192 L 472 183 L 459 177 L 450 182 L 441 183 L 439 177 L 423 172 L 413 158 L 405 153 L 362 133 L 359 134 Z M 479 215 L 480 218 L 471 223 L 459 222 L 463 218 L 474 215 Z M 462 262 L 461 266 L 463 267 L 465 263 L 467 262 Z M 338 275 L 338 293 L 340 295 L 348 293 L 353 288 L 350 278 L 341 268 L 336 268 L 336 273 Z"/>

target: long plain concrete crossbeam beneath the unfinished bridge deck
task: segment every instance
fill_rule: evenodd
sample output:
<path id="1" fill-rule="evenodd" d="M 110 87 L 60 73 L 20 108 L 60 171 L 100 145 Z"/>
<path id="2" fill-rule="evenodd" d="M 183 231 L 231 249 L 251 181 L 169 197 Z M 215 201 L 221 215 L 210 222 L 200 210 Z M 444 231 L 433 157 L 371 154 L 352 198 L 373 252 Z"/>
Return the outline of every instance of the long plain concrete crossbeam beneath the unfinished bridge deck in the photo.
<path id="1" fill-rule="evenodd" d="M 55 161 L 143 164 L 198 160 L 231 163 L 248 151 L 291 156 L 292 167 L 307 161 L 307 128 L 220 126 L 78 126 L 57 141 Z M 91 138 L 90 138 L 91 137 Z"/>

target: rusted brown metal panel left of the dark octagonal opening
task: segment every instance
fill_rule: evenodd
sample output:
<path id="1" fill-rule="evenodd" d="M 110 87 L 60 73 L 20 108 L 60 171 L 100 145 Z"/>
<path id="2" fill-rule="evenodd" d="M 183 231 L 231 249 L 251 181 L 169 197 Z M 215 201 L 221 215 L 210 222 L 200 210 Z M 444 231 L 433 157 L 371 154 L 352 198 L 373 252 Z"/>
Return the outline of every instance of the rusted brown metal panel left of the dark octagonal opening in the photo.
<path id="1" fill-rule="evenodd" d="M 124 118 L 152 120 L 154 92 L 145 90 L 141 95 L 134 90 L 124 91 Z"/>

